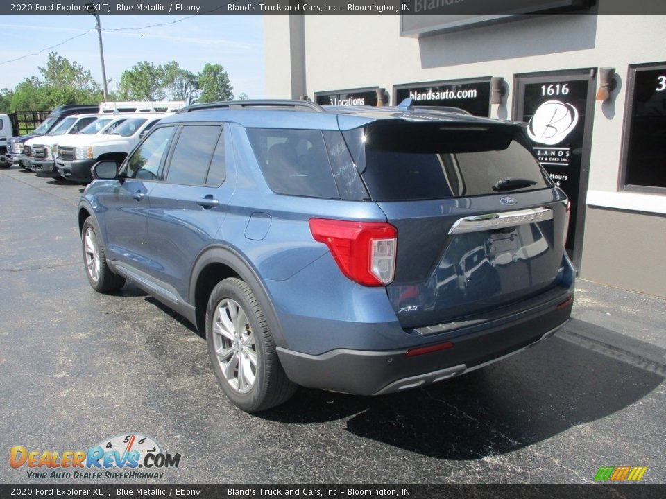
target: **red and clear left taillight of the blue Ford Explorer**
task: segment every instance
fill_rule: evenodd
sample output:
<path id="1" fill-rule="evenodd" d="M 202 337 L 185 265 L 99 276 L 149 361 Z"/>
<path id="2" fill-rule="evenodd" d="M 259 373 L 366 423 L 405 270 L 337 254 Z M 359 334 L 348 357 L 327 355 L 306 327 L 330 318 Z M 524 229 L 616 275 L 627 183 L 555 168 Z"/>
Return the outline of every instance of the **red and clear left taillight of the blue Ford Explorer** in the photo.
<path id="1" fill-rule="evenodd" d="M 311 218 L 314 240 L 330 249 L 345 276 L 364 286 L 386 286 L 395 273 L 398 230 L 384 222 Z"/>

